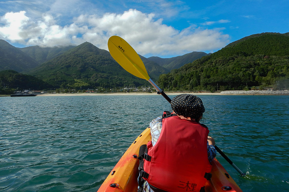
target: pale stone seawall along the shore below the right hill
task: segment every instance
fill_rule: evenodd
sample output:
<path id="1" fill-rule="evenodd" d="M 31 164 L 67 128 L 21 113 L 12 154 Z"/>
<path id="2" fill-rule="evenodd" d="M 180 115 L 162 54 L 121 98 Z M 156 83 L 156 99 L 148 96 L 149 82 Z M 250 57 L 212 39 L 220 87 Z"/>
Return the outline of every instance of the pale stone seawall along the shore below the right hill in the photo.
<path id="1" fill-rule="evenodd" d="M 289 90 L 276 90 L 276 91 L 221 91 L 220 95 L 289 95 Z"/>

